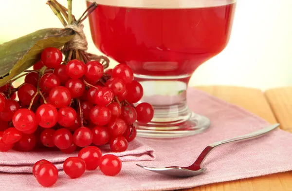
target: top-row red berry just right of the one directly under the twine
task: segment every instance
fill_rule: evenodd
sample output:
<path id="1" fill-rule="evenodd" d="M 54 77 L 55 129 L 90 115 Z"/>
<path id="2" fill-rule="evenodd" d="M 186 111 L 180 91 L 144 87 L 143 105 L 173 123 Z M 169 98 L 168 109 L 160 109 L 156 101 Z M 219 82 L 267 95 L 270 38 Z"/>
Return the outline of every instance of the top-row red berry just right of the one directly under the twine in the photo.
<path id="1" fill-rule="evenodd" d="M 91 81 L 100 79 L 103 76 L 104 69 L 101 63 L 91 60 L 86 63 L 85 77 Z"/>

